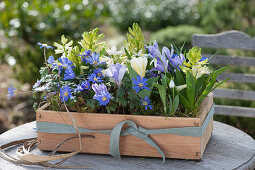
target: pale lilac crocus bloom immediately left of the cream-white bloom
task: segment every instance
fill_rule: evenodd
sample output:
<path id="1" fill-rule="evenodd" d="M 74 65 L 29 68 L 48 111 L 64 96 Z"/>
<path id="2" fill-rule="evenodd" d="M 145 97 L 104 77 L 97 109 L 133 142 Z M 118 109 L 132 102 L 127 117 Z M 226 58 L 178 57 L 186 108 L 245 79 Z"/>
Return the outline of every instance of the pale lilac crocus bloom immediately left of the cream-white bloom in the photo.
<path id="1" fill-rule="evenodd" d="M 114 65 L 111 65 L 105 71 L 105 75 L 113 78 L 115 80 L 115 82 L 117 83 L 117 85 L 120 87 L 126 70 L 127 70 L 127 67 L 125 65 L 121 65 L 121 64 L 117 63 Z"/>

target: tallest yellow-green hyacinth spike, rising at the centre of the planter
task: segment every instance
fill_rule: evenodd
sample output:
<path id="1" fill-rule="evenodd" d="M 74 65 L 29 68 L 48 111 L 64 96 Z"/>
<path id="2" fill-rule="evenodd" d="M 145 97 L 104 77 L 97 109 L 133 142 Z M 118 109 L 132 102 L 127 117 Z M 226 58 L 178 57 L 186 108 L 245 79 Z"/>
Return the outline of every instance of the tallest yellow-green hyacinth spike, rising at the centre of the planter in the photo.
<path id="1" fill-rule="evenodd" d="M 129 33 L 127 33 L 127 41 L 124 41 L 124 46 L 129 51 L 129 54 L 134 55 L 135 53 L 144 54 L 144 36 L 140 26 L 134 23 L 132 28 L 129 27 Z"/>

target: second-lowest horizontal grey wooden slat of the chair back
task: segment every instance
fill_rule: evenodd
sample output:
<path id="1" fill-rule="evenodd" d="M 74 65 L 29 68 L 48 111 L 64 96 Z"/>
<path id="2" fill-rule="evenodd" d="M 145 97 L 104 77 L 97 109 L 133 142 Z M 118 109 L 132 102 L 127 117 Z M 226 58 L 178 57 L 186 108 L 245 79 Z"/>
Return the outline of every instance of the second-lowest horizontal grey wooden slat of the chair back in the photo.
<path id="1" fill-rule="evenodd" d="M 255 92 L 249 90 L 236 90 L 236 89 L 215 89 L 214 97 L 255 101 Z"/>

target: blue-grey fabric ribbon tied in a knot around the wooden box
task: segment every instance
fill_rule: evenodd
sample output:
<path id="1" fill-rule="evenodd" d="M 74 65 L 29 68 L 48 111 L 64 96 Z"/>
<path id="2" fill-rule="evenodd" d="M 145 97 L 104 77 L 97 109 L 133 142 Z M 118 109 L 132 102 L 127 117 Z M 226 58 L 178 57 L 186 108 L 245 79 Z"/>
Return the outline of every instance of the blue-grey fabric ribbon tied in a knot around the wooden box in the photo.
<path id="1" fill-rule="evenodd" d="M 142 127 L 137 127 L 135 122 L 131 120 L 125 120 L 117 124 L 112 130 L 89 130 L 86 128 L 78 127 L 80 133 L 104 133 L 110 135 L 110 155 L 117 159 L 121 159 L 119 151 L 119 139 L 120 136 L 132 135 L 137 138 L 144 140 L 149 145 L 153 146 L 158 150 L 163 158 L 163 163 L 165 162 L 164 152 L 157 146 L 157 144 L 149 137 L 149 135 L 157 134 L 172 134 L 179 136 L 191 136 L 200 137 L 204 134 L 211 118 L 214 113 L 214 104 L 212 105 L 206 119 L 202 126 L 197 127 L 180 127 L 180 128 L 170 128 L 170 129 L 153 129 L 148 130 Z M 123 126 L 127 124 L 128 127 L 122 130 Z M 61 134 L 72 134 L 76 133 L 72 125 L 60 124 L 60 123 L 50 123 L 50 122 L 36 122 L 37 132 L 42 133 L 61 133 Z"/>

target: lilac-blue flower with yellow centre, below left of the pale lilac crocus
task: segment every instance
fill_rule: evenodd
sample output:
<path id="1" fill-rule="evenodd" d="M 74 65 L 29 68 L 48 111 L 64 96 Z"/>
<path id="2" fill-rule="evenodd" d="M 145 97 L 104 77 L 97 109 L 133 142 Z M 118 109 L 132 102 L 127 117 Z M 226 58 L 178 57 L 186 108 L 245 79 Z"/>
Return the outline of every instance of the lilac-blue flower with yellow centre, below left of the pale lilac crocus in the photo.
<path id="1" fill-rule="evenodd" d="M 95 92 L 93 99 L 96 99 L 100 105 L 106 105 L 110 102 L 111 94 L 107 91 L 104 84 L 93 84 L 92 89 Z"/>

